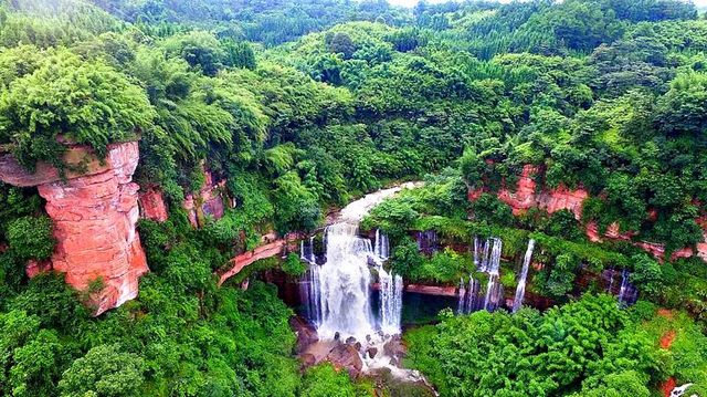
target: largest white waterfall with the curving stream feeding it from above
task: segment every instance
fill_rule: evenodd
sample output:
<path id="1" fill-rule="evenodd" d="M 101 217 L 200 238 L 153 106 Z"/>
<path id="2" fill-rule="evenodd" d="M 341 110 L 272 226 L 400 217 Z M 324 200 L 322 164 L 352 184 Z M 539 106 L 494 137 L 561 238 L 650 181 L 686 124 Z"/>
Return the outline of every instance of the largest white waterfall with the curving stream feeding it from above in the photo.
<path id="1" fill-rule="evenodd" d="M 338 333 L 341 338 L 354 336 L 363 341 L 366 335 L 377 331 L 371 309 L 369 263 L 377 265 L 381 276 L 380 325 L 400 332 L 403 281 L 382 269 L 382 260 L 389 253 L 388 237 L 377 232 L 373 247 L 371 240 L 358 236 L 358 224 L 363 216 L 400 190 L 401 187 L 380 190 L 349 203 L 341 210 L 337 223 L 326 229 L 326 262 L 318 270 L 321 321 L 317 333 L 320 338 L 334 338 Z"/>

